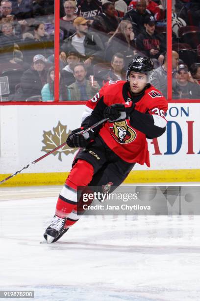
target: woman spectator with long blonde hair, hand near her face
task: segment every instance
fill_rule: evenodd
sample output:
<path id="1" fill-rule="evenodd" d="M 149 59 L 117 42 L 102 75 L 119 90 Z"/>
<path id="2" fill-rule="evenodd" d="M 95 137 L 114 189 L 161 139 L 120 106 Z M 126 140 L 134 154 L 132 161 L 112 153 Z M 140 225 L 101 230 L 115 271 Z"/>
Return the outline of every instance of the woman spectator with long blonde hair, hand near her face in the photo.
<path id="1" fill-rule="evenodd" d="M 132 31 L 132 24 L 128 20 L 122 20 L 115 31 L 115 33 L 108 40 L 105 50 L 106 61 L 111 61 L 116 52 L 122 53 L 125 57 L 133 57 L 137 54 L 134 42 L 134 32 Z"/>

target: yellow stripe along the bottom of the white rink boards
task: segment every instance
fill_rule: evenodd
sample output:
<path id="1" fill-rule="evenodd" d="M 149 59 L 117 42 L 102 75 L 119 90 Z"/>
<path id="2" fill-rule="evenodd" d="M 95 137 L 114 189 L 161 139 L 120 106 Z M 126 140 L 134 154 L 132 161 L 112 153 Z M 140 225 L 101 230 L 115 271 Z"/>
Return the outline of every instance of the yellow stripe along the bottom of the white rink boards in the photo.
<path id="1" fill-rule="evenodd" d="M 62 185 L 69 173 L 19 174 L 1 184 L 5 186 Z M 0 181 L 8 175 L 0 175 Z M 112 180 L 112 179 L 110 179 Z M 131 171 L 125 183 L 200 182 L 200 169 Z"/>

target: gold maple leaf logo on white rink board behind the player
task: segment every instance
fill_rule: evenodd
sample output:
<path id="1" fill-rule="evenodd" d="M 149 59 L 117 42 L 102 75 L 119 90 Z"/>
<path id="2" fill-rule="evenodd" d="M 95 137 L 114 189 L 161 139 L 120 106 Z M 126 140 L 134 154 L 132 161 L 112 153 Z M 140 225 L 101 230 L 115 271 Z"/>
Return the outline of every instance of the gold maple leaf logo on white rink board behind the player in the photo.
<path id="1" fill-rule="evenodd" d="M 62 143 L 66 142 L 68 135 L 72 131 L 69 130 L 67 132 L 67 125 L 62 125 L 60 121 L 58 121 L 58 125 L 53 127 L 53 132 L 50 131 L 43 131 L 43 146 L 41 151 L 49 152 L 61 145 Z M 58 154 L 58 160 L 62 161 L 62 153 L 68 155 L 69 153 L 75 153 L 77 148 L 70 148 L 67 144 L 60 148 L 57 151 L 54 151 L 52 154 L 56 156 Z"/>

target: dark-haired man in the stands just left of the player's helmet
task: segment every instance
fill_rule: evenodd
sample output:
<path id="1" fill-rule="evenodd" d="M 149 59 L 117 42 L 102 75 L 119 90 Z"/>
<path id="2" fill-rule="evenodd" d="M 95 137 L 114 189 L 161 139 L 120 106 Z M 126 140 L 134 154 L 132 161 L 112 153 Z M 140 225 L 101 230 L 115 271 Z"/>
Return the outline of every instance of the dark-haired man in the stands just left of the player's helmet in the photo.
<path id="1" fill-rule="evenodd" d="M 98 75 L 100 86 L 105 85 L 107 81 L 125 81 L 125 59 L 121 53 L 116 53 L 111 60 L 112 69 L 102 70 Z"/>

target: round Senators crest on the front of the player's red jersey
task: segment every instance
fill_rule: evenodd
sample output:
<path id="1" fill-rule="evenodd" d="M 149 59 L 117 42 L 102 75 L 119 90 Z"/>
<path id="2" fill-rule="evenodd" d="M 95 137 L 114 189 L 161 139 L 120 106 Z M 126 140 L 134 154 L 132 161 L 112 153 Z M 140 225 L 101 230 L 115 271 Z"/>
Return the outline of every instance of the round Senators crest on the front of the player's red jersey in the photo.
<path id="1" fill-rule="evenodd" d="M 111 135 L 121 144 L 132 142 L 136 138 L 136 132 L 127 125 L 126 120 L 116 121 L 110 126 Z"/>

